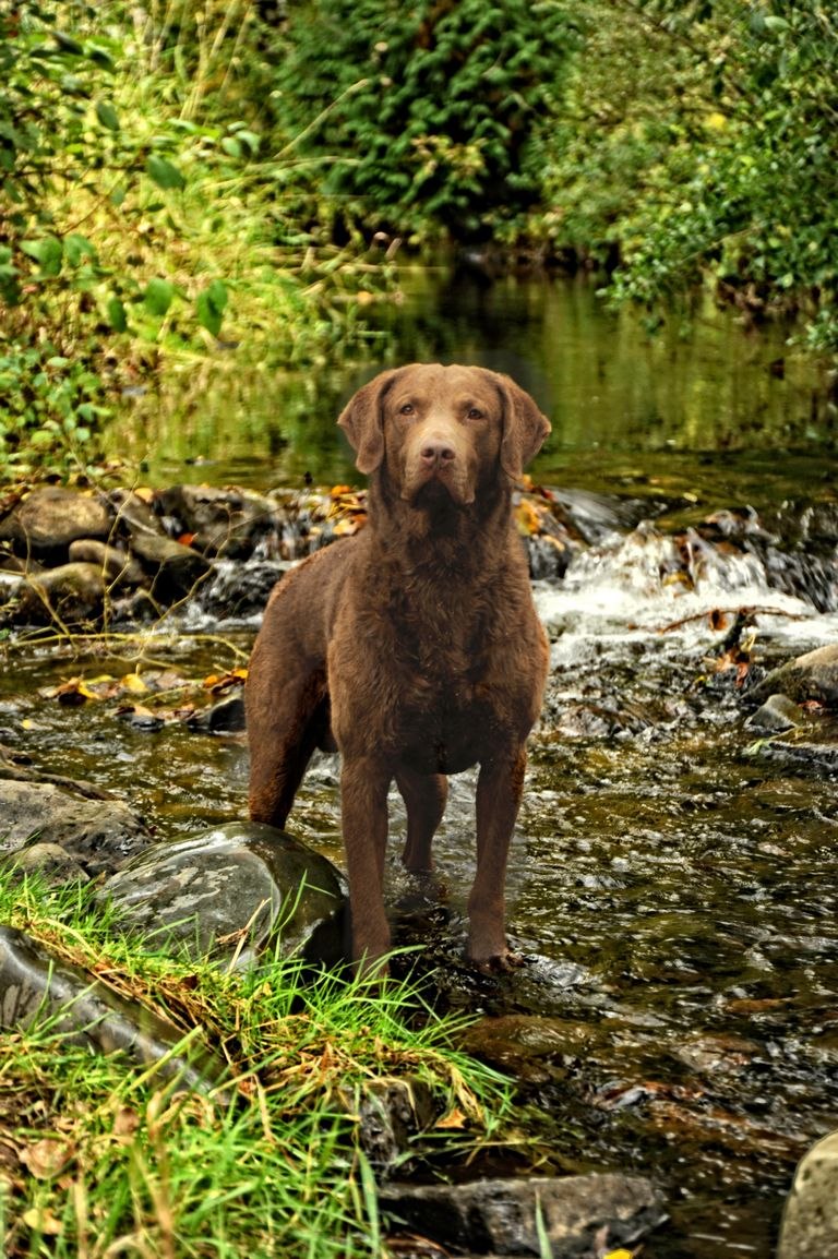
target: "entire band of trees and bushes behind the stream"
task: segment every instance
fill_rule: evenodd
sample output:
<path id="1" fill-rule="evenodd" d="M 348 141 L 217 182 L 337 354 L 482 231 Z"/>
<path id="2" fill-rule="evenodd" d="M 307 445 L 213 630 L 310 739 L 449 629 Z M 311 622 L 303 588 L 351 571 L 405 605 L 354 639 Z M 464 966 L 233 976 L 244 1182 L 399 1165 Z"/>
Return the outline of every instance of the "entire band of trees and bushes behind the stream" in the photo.
<path id="1" fill-rule="evenodd" d="M 355 353 L 396 258 L 710 287 L 838 353 L 838 11 L 741 0 L 43 0 L 0 15 L 0 470 L 247 344 Z"/>

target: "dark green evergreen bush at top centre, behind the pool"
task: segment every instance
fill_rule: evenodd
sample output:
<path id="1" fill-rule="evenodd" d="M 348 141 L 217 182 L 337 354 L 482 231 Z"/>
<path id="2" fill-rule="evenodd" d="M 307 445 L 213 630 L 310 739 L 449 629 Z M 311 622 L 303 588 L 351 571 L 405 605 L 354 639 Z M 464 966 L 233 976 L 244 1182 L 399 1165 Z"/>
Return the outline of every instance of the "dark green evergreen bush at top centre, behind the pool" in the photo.
<path id="1" fill-rule="evenodd" d="M 537 204 L 573 33 L 555 0 L 310 0 L 279 121 L 332 214 L 487 238 Z"/>

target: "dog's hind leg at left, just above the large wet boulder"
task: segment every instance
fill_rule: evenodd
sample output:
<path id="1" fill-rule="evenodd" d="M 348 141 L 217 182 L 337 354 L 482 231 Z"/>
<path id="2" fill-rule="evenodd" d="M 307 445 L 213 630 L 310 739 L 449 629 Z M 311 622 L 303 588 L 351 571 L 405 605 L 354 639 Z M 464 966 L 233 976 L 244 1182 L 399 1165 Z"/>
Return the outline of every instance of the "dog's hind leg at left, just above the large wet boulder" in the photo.
<path id="1" fill-rule="evenodd" d="M 255 658 L 255 657 L 254 657 Z M 245 689 L 250 744 L 250 818 L 283 827 L 316 747 L 328 731 L 325 670 L 268 675 Z"/>

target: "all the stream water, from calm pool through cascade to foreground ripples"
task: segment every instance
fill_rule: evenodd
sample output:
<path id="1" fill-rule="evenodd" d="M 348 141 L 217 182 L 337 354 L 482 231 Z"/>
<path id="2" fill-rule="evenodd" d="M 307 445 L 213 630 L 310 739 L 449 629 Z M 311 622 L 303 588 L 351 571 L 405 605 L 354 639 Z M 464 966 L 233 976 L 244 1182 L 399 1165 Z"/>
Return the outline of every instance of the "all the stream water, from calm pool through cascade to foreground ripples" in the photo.
<path id="1" fill-rule="evenodd" d="M 508 898 L 527 964 L 483 981 L 458 961 L 468 774 L 438 841 L 445 908 L 404 912 L 403 935 L 442 963 L 444 1003 L 500 1016 L 500 1036 L 481 1035 L 521 1074 L 549 1167 L 634 1168 L 666 1186 L 672 1222 L 645 1259 L 765 1259 L 795 1161 L 838 1119 L 837 773 L 745 725 L 742 670 L 720 643 L 742 607 L 760 609 L 755 669 L 834 641 L 834 407 L 779 330 L 705 307 L 692 339 L 674 322 L 651 340 L 579 282 L 418 274 L 380 326 L 391 361 L 481 363 L 535 394 L 554 437 L 534 478 L 560 487 L 580 539 L 564 579 L 536 583 L 554 670 Z M 371 364 L 306 378 L 245 366 L 127 402 L 115 447 L 147 456 L 155 485 L 355 481 L 333 419 Z M 223 671 L 253 637 L 195 626 L 214 636 L 148 636 L 146 667 Z M 19 658 L 0 724 L 39 763 L 125 794 L 161 835 L 240 816 L 240 739 L 177 721 L 141 733 L 112 706 L 39 691 L 135 663 Z M 835 739 L 828 716 L 812 721 L 812 739 Z M 395 798 L 394 815 L 398 840 Z M 340 862 L 338 816 L 322 758 L 291 828 Z M 391 849 L 395 912 L 411 889 Z"/>

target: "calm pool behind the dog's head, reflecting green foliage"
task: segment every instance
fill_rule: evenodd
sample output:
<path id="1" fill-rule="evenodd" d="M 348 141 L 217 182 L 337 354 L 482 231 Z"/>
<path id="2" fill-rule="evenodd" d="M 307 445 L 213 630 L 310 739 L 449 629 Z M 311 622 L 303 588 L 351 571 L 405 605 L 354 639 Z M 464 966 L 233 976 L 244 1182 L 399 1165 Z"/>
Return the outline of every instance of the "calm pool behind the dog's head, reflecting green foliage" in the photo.
<path id="1" fill-rule="evenodd" d="M 785 327 L 746 330 L 703 297 L 649 335 L 640 313 L 609 312 L 579 278 L 416 268 L 403 272 L 401 296 L 372 308 L 366 361 L 336 346 L 330 361 L 289 373 L 279 346 L 273 359 L 247 345 L 219 353 L 170 373 L 161 395 L 122 399 L 112 449 L 155 482 L 356 480 L 335 428 L 341 404 L 380 366 L 442 359 L 506 371 L 537 398 L 554 422 L 534 470 L 544 482 L 613 491 L 652 481 L 730 501 L 773 492 L 778 476 L 788 491 L 834 471 L 824 452 L 835 407 Z M 778 452 L 794 456 L 791 471 Z"/>

